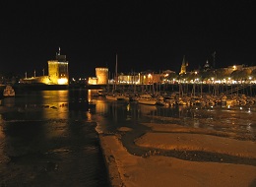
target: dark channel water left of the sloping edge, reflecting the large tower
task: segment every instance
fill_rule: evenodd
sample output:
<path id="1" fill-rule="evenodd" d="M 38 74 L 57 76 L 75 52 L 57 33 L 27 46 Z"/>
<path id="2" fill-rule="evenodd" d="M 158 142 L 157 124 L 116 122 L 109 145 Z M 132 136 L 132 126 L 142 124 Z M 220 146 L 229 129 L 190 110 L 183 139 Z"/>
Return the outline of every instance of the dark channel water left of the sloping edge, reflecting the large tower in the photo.
<path id="1" fill-rule="evenodd" d="M 108 186 L 86 91 L 1 100 L 0 186 Z"/>

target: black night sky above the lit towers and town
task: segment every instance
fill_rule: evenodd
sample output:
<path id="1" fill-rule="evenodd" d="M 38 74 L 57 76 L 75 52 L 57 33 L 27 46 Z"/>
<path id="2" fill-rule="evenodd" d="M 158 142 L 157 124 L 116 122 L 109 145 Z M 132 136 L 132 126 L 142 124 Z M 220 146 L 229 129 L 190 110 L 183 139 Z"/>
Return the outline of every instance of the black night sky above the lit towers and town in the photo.
<path id="1" fill-rule="evenodd" d="M 73 77 L 118 72 L 256 65 L 253 0 L 86 0 L 0 2 L 0 72 L 42 74 L 58 47 Z"/>

